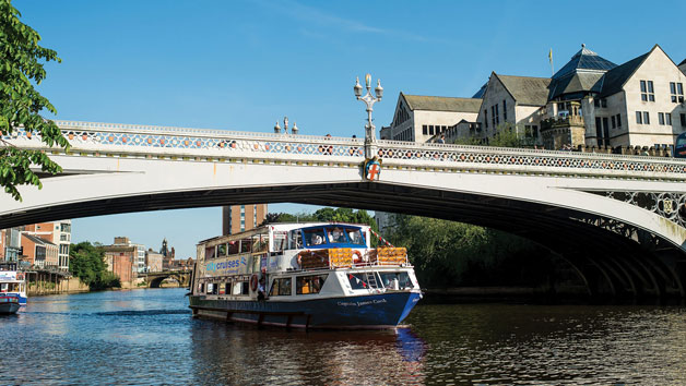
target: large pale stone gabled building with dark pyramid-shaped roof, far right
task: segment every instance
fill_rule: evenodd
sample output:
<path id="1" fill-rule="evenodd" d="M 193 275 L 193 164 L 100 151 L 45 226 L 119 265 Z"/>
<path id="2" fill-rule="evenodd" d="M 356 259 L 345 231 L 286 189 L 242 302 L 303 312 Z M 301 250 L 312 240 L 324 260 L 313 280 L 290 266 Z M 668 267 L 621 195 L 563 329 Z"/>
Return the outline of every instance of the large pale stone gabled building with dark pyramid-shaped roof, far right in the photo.
<path id="1" fill-rule="evenodd" d="M 686 131 L 685 83 L 658 45 L 619 65 L 582 45 L 551 79 L 492 74 L 478 122 L 485 137 L 513 123 L 547 149 L 667 147 Z"/>

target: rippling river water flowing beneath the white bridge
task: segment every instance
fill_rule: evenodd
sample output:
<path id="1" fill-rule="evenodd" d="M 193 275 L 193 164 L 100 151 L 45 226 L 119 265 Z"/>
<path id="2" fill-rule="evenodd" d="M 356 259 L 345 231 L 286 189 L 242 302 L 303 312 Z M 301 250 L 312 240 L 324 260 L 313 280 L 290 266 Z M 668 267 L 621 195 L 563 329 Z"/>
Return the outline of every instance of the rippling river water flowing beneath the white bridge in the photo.
<path id="1" fill-rule="evenodd" d="M 194 319 L 184 289 L 35 297 L 0 384 L 685 385 L 686 309 L 422 304 L 387 331 Z"/>

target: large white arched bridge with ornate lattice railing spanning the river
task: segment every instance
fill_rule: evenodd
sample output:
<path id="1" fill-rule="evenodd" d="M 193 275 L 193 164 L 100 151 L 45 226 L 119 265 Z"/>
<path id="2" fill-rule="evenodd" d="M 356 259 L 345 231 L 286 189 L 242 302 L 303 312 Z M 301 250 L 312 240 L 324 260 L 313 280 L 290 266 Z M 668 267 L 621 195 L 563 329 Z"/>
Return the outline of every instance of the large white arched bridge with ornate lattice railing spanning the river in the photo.
<path id="1" fill-rule="evenodd" d="M 591 294 L 686 297 L 686 162 L 570 152 L 57 121 L 69 153 L 22 130 L 3 140 L 63 168 L 0 228 L 174 208 L 293 202 L 469 222 L 540 242 Z"/>

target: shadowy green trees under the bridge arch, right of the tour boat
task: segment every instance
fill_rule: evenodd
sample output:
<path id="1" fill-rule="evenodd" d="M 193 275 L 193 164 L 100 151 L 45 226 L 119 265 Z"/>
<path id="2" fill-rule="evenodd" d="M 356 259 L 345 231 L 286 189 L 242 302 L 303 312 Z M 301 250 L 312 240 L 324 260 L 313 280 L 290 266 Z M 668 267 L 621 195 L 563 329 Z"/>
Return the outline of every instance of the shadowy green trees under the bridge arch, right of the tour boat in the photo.
<path id="1" fill-rule="evenodd" d="M 407 248 L 426 287 L 541 285 L 552 269 L 539 244 L 461 222 L 395 215 L 389 240 Z"/>

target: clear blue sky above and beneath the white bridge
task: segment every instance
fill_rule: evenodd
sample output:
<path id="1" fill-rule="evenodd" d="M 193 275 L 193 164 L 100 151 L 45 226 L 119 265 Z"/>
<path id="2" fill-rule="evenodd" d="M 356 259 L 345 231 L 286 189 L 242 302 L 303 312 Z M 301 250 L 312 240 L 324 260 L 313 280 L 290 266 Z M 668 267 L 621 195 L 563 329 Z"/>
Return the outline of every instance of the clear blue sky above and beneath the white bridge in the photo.
<path id="1" fill-rule="evenodd" d="M 400 92 L 471 97 L 492 71 L 549 76 L 580 49 L 620 64 L 659 44 L 686 58 L 686 1 L 14 0 L 58 51 L 39 86 L 58 119 L 364 135 L 355 76 L 381 79 L 388 125 Z M 272 205 L 270 212 L 308 210 Z M 311 208 L 309 209 L 311 210 Z M 177 257 L 221 232 L 221 209 L 74 219 L 72 241 L 115 236 Z"/>

